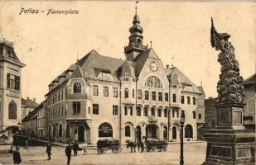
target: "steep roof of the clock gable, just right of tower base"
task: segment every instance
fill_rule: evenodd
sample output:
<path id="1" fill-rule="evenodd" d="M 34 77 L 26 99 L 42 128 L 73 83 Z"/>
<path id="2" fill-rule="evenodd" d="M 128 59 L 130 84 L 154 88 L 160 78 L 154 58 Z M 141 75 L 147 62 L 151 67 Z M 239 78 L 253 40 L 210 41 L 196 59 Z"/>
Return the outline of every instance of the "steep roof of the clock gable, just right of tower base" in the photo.
<path id="1" fill-rule="evenodd" d="M 152 48 L 142 51 L 135 59 L 133 59 L 133 62 L 135 63 L 136 77 L 138 77 L 142 72 L 142 68 L 146 64 L 148 58 L 159 59 L 156 52 Z"/>

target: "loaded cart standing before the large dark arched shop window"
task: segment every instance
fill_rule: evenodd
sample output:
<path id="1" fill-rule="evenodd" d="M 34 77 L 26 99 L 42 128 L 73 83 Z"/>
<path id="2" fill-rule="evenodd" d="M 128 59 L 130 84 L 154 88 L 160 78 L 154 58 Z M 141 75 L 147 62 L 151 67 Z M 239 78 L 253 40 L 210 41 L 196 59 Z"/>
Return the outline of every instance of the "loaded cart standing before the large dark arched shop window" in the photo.
<path id="1" fill-rule="evenodd" d="M 120 142 L 116 139 L 100 139 L 97 142 L 97 153 L 105 153 L 108 150 L 118 153 L 121 150 Z"/>

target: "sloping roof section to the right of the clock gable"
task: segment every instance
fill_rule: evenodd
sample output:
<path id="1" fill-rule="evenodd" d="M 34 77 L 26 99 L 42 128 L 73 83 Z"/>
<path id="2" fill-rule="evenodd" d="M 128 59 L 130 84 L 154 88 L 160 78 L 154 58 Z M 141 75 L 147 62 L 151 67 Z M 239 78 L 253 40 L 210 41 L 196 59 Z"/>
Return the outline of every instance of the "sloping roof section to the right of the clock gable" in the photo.
<path id="1" fill-rule="evenodd" d="M 181 84 L 183 85 L 190 85 L 193 89 L 193 92 L 197 92 L 197 93 L 201 93 L 200 89 L 195 85 L 195 83 L 191 82 L 191 80 L 189 78 L 187 78 L 185 76 L 184 73 L 181 72 L 181 70 L 179 70 L 176 67 L 172 67 L 172 68 L 166 68 L 166 73 L 167 75 L 171 75 L 171 73 L 173 73 L 173 75 L 177 75 L 176 78 L 180 78 L 181 80 Z M 171 76 L 170 76 L 171 78 Z M 175 77 L 174 77 L 175 78 Z M 174 82 L 176 82 L 177 80 L 174 80 Z"/>

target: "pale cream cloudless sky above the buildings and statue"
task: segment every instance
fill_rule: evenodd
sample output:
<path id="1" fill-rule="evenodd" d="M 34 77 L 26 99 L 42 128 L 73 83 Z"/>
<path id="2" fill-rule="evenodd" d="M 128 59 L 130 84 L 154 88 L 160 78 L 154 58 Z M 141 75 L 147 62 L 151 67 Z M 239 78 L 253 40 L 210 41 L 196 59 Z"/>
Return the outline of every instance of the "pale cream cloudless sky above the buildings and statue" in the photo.
<path id="1" fill-rule="evenodd" d="M 135 2 L 0 1 L 0 37 L 14 42 L 22 68 L 22 97 L 44 100 L 48 84 L 90 50 L 125 59 Z M 38 9 L 38 14 L 20 14 Z M 78 15 L 47 15 L 49 9 L 77 10 Z M 240 73 L 255 73 L 254 2 L 144 2 L 138 3 L 143 43 L 162 64 L 174 64 L 206 97 L 217 97 L 219 52 L 210 45 L 210 17 L 215 29 L 231 35 Z M 172 61 L 172 57 L 174 60 Z"/>

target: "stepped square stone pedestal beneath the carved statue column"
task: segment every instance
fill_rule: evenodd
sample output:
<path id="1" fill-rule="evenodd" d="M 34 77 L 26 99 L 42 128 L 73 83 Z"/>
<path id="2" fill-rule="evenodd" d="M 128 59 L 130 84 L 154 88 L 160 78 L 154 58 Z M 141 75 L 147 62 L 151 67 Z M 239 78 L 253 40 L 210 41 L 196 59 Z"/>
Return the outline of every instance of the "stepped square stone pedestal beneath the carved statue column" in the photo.
<path id="1" fill-rule="evenodd" d="M 203 165 L 254 164 L 253 130 L 243 126 L 243 103 L 227 102 L 215 105 L 218 114 L 217 127 L 204 134 L 207 140 Z"/>

